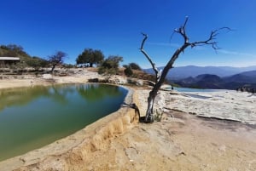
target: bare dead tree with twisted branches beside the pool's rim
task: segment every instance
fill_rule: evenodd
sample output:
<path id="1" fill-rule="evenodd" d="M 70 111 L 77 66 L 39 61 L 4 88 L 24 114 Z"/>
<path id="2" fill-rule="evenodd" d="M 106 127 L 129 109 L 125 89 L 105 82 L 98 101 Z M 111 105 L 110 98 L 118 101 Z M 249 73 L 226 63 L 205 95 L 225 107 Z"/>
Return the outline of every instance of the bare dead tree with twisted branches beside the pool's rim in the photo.
<path id="1" fill-rule="evenodd" d="M 218 45 L 217 45 L 217 42 L 215 42 L 215 38 L 218 36 L 219 31 L 221 31 L 221 30 L 230 31 L 229 27 L 222 27 L 217 30 L 211 31 L 210 36 L 207 37 L 206 40 L 190 43 L 189 37 L 186 33 L 186 25 L 187 25 L 188 20 L 189 20 L 189 18 L 187 17 L 186 20 L 184 21 L 183 25 L 173 31 L 173 33 L 177 33 L 183 37 L 183 45 L 180 46 L 179 48 L 177 48 L 177 50 L 172 54 L 172 57 L 167 62 L 163 71 L 158 70 L 158 68 L 155 66 L 154 62 L 151 60 L 150 56 L 144 50 L 143 46 L 148 38 L 148 35 L 143 33 L 143 41 L 142 41 L 142 44 L 140 47 L 140 51 L 147 58 L 147 60 L 151 64 L 151 66 L 154 70 L 154 73 L 155 73 L 154 87 L 152 88 L 152 90 L 149 92 L 149 95 L 148 95 L 148 108 L 146 111 L 146 116 L 144 118 L 144 123 L 153 123 L 154 122 L 154 117 L 153 117 L 154 99 L 157 95 L 158 90 L 160 89 L 160 86 L 162 85 L 162 83 L 164 83 L 168 71 L 173 68 L 173 64 L 174 64 L 175 60 L 177 60 L 179 54 L 184 52 L 184 50 L 188 47 L 194 48 L 196 46 L 203 46 L 203 45 L 211 45 L 213 49 L 217 50 Z"/>

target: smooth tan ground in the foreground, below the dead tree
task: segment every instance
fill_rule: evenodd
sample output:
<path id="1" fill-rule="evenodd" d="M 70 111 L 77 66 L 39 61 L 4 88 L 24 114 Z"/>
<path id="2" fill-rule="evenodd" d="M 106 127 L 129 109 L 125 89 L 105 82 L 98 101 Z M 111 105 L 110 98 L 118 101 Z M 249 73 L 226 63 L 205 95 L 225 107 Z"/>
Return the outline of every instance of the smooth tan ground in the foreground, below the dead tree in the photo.
<path id="1" fill-rule="evenodd" d="M 172 117 L 171 117 L 172 116 Z M 255 170 L 255 128 L 173 111 L 137 124 L 90 157 L 85 170 Z"/>

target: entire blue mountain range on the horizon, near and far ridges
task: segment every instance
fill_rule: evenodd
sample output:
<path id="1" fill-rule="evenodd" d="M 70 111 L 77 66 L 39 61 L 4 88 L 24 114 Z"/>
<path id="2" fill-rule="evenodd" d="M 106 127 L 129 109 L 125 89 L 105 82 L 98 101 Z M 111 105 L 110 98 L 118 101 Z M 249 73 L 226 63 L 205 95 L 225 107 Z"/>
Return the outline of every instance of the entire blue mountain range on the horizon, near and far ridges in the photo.
<path id="1" fill-rule="evenodd" d="M 166 80 L 188 88 L 256 88 L 256 66 L 179 66 L 168 72 Z"/>

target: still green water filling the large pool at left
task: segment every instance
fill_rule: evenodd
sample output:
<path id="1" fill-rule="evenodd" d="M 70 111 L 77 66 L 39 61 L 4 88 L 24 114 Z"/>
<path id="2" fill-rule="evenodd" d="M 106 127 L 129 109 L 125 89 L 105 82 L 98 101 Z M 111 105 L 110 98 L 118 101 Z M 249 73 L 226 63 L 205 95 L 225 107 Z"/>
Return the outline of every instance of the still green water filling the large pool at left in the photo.
<path id="1" fill-rule="evenodd" d="M 73 134 L 117 111 L 127 90 L 103 84 L 0 90 L 0 161 Z"/>

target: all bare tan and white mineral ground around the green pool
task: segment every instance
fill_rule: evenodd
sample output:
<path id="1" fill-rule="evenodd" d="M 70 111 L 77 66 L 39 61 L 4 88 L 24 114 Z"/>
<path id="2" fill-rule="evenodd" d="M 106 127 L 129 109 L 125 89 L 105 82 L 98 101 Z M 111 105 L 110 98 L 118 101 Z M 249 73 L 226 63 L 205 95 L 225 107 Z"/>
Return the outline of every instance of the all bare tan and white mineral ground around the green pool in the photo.
<path id="1" fill-rule="evenodd" d="M 58 83 L 86 82 L 86 77 L 57 79 L 61 80 Z M 15 87 L 14 83 L 18 87 L 30 86 L 30 81 L 1 80 L 0 88 Z M 133 102 L 143 114 L 148 90 L 135 88 L 134 91 Z M 119 111 L 123 116 L 121 120 L 113 121 L 120 113 L 110 115 L 79 131 L 78 136 L 74 134 L 48 145 L 46 148 L 55 149 L 51 154 L 42 152 L 45 148 L 38 150 L 39 153 L 32 151 L 0 162 L 0 170 L 256 170 L 255 98 L 232 91 L 200 95 L 211 98 L 200 100 L 160 91 L 155 109 L 164 112 L 161 122 L 138 123 L 134 119 L 136 114 L 124 111 L 123 107 Z M 234 111 L 237 113 L 233 115 Z M 67 141 L 70 146 L 66 146 Z"/>

